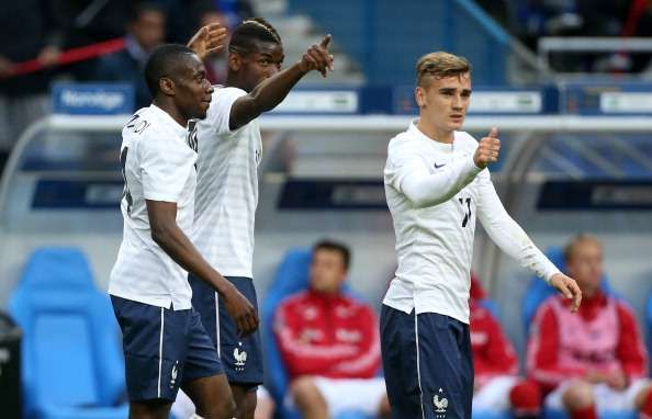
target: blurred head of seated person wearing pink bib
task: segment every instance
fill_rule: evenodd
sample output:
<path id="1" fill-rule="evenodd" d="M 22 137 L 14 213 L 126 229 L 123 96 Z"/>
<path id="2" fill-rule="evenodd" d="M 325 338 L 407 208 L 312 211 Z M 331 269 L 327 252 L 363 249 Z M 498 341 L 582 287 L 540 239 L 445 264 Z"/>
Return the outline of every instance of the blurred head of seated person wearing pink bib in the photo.
<path id="1" fill-rule="evenodd" d="M 564 248 L 567 274 L 577 281 L 586 296 L 592 296 L 603 279 L 603 245 L 591 235 L 573 237 Z"/>

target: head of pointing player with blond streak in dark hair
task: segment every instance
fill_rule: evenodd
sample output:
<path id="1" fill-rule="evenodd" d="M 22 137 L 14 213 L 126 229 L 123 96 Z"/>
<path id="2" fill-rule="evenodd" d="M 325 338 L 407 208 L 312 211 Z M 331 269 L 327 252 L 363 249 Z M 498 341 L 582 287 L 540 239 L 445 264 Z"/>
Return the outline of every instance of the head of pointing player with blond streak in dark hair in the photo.
<path id="1" fill-rule="evenodd" d="M 277 30 L 265 19 L 247 19 L 234 29 L 228 44 L 228 84 L 250 92 L 281 69 L 283 58 Z"/>

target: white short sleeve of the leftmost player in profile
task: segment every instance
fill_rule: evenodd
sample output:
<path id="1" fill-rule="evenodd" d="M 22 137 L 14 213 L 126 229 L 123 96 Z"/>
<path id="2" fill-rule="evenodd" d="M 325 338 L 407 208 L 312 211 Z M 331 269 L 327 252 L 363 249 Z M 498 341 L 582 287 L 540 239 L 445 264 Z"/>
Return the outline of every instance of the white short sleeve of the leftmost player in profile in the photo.
<path id="1" fill-rule="evenodd" d="M 146 200 L 178 202 L 195 160 L 170 141 L 149 137 L 138 144 L 143 195 Z M 189 148 L 190 151 L 190 148 Z"/>

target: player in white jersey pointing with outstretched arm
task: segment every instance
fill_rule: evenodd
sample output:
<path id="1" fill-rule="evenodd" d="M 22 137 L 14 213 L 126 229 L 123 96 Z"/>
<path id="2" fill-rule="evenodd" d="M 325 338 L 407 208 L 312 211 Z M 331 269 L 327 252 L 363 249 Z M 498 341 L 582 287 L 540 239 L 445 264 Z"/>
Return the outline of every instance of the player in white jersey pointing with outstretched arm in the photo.
<path id="1" fill-rule="evenodd" d="M 311 70 L 326 76 L 333 66 L 330 36 L 313 45 L 301 61 L 280 71 L 283 46 L 277 31 L 262 19 L 238 25 L 228 47 L 225 87 L 216 87 L 205 120 L 200 121 L 195 230 L 193 240 L 207 261 L 251 304 L 254 219 L 258 203 L 257 168 L 262 155 L 257 117 L 277 106 Z M 238 336 L 225 316 L 223 299 L 190 275 L 193 307 L 209 335 L 232 385 L 238 418 L 252 418 L 256 387 L 262 382 L 260 336 Z"/>

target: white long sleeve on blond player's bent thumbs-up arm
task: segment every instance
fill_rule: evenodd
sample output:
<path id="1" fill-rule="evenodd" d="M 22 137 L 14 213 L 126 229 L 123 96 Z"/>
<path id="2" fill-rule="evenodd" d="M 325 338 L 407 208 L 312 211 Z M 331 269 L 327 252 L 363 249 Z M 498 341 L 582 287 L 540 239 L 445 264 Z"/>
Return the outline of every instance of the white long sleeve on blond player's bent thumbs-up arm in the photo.
<path id="1" fill-rule="evenodd" d="M 409 148 L 409 144 L 390 145 L 384 175 L 386 183 L 417 207 L 438 205 L 450 200 L 481 171 L 473 162 L 472 155 L 463 155 L 430 173 L 417 150 Z"/>

